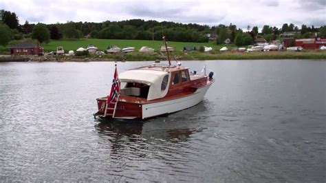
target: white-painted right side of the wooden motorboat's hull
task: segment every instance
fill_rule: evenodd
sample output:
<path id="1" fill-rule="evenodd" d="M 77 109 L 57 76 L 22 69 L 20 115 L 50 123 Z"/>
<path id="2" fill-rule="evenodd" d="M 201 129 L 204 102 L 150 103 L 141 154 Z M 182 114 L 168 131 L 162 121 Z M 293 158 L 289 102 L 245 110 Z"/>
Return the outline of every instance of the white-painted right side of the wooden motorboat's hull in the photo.
<path id="1" fill-rule="evenodd" d="M 153 116 L 159 116 L 162 114 L 170 114 L 176 111 L 187 109 L 189 107 L 193 107 L 203 100 L 210 85 L 206 85 L 197 89 L 195 94 L 192 94 L 191 96 L 142 105 L 142 119 L 151 118 Z"/>

